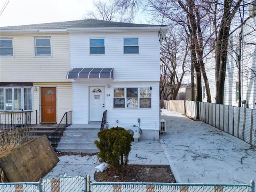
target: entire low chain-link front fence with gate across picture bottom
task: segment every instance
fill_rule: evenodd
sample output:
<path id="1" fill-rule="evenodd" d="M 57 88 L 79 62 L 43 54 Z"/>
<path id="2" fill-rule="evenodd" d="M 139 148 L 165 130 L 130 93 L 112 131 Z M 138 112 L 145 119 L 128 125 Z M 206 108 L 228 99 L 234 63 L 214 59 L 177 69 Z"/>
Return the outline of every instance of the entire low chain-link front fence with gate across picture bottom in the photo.
<path id="1" fill-rule="evenodd" d="M 255 192 L 246 184 L 182 184 L 91 182 L 90 176 L 43 179 L 40 182 L 0 183 L 1 192 Z"/>

